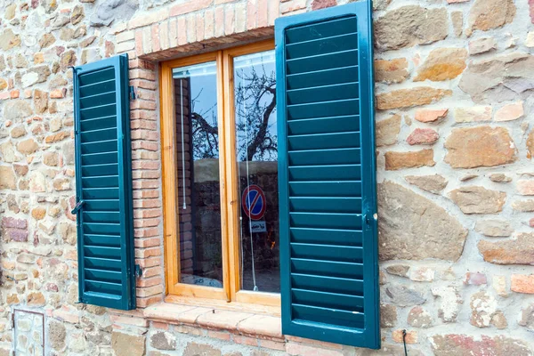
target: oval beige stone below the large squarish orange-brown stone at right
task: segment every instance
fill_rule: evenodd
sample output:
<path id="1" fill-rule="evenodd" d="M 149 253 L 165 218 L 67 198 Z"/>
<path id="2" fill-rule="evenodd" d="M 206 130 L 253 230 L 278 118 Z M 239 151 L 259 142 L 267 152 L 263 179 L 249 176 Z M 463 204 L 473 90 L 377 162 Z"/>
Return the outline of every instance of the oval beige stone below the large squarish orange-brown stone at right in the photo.
<path id="1" fill-rule="evenodd" d="M 506 192 L 468 186 L 450 191 L 449 198 L 464 214 L 496 214 L 503 210 Z"/>

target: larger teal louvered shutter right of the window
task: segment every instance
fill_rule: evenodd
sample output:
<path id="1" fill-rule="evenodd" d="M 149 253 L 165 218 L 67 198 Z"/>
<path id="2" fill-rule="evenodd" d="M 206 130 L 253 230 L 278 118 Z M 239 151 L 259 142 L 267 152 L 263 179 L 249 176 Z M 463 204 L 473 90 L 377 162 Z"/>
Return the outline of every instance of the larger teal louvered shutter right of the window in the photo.
<path id="1" fill-rule="evenodd" d="M 282 332 L 379 348 L 370 1 L 275 32 Z"/>

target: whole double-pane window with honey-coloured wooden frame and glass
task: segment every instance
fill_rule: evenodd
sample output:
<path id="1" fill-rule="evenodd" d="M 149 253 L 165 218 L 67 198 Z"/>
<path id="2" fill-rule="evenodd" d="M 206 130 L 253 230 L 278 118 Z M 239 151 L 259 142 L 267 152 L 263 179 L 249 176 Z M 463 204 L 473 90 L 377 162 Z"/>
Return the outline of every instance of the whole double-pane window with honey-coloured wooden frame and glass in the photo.
<path id="1" fill-rule="evenodd" d="M 169 295 L 279 305 L 273 48 L 161 66 Z"/>

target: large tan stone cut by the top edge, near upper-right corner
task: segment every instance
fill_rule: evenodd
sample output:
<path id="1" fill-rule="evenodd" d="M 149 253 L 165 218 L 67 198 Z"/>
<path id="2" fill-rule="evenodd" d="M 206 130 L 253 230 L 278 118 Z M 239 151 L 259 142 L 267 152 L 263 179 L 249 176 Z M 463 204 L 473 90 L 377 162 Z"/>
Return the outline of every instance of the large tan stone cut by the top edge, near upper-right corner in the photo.
<path id="1" fill-rule="evenodd" d="M 488 31 L 500 28 L 514 20 L 514 0 L 476 0 L 469 11 L 465 34 L 471 36 L 473 31 Z"/>

